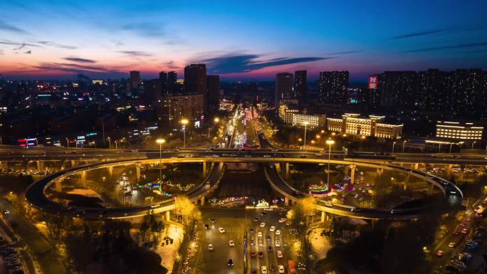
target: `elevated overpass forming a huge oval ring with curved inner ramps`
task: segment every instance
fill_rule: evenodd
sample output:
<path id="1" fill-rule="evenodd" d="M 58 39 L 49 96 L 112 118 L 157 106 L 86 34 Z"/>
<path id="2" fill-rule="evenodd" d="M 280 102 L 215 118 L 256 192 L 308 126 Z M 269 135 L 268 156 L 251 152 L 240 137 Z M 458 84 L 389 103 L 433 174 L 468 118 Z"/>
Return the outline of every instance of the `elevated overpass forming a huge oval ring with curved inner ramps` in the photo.
<path id="1" fill-rule="evenodd" d="M 339 156 L 339 155 L 337 155 Z M 270 150 L 262 151 L 238 151 L 235 149 L 222 149 L 222 150 L 183 150 L 164 153 L 163 158 L 160 160 L 162 163 L 185 163 L 185 162 L 201 162 L 201 163 L 214 163 L 212 165 L 209 176 L 201 183 L 196 189 L 189 192 L 189 198 L 193 201 L 199 201 L 200 204 L 204 204 L 204 196 L 209 192 L 216 189 L 221 179 L 221 174 L 224 169 L 224 162 L 259 162 L 264 164 L 264 171 L 266 178 L 271 183 L 273 189 L 279 194 L 283 195 L 286 201 L 299 201 L 305 197 L 299 191 L 296 191 L 292 187 L 288 186 L 285 181 L 277 174 L 276 168 L 273 167 L 276 163 L 282 163 L 285 167 L 288 167 L 288 163 L 309 163 L 309 164 L 328 164 L 328 155 L 324 157 L 320 154 L 310 154 L 309 152 L 296 152 L 296 151 L 279 151 L 272 152 Z M 85 166 L 73 167 L 65 169 L 55 174 L 50 174 L 45 178 L 36 181 L 29 186 L 26 191 L 26 198 L 36 208 L 46 211 L 52 214 L 67 214 L 69 216 L 78 216 L 83 218 L 130 218 L 135 216 L 142 216 L 150 212 L 160 213 L 168 212 L 175 208 L 174 199 L 170 199 L 159 204 L 153 204 L 150 206 L 134 206 L 118 209 L 86 209 L 78 207 L 68 207 L 61 204 L 57 204 L 49 200 L 45 195 L 45 190 L 51 184 L 55 184 L 56 181 L 66 178 L 66 176 L 73 176 L 74 174 L 80 174 L 83 178 L 83 174 L 93 169 L 112 168 L 120 165 L 135 164 L 136 167 L 140 164 L 150 164 L 159 162 L 159 153 L 157 157 L 152 152 L 147 152 L 145 158 L 137 159 L 120 159 L 109 162 L 98 162 L 95 164 L 87 164 Z M 334 157 L 330 159 L 331 164 L 342 164 L 350 167 L 352 171 L 352 177 L 354 176 L 355 167 L 367 167 L 372 169 L 386 169 L 394 172 L 400 172 L 409 176 L 417 177 L 421 180 L 428 182 L 431 185 L 438 187 L 445 196 L 444 211 L 449 211 L 461 204 L 463 194 L 460 189 L 449 181 L 441 179 L 439 176 L 434 176 L 426 172 L 420 172 L 415 169 L 407 167 L 398 167 L 394 164 L 380 162 L 378 159 L 361 159 L 355 161 L 354 159 L 340 159 L 340 157 Z M 204 164 L 206 165 L 206 164 Z M 140 174 L 140 172 L 136 172 Z M 84 175 L 85 176 L 85 175 Z M 140 175 L 137 175 L 140 176 Z M 352 180 L 353 181 L 353 180 Z M 425 214 L 424 208 L 416 209 L 394 209 L 392 211 L 384 211 L 379 209 L 361 209 L 352 206 L 342 206 L 338 204 L 330 204 L 328 201 L 321 201 L 318 199 L 316 203 L 316 209 L 329 214 L 338 214 L 342 216 L 352 216 L 355 218 L 388 218 L 388 219 L 408 219 L 417 218 Z M 322 215 L 323 216 L 323 215 Z"/>

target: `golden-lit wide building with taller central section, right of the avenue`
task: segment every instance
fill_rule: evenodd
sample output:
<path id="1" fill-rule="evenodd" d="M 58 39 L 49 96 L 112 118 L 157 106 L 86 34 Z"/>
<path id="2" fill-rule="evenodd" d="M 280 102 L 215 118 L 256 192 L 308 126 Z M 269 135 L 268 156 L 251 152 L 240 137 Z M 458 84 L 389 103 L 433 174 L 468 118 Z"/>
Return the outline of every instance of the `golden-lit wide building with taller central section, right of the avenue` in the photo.
<path id="1" fill-rule="evenodd" d="M 402 125 L 392 125 L 384 122 L 385 116 L 345 113 L 342 118 L 326 118 L 327 128 L 332 132 L 347 135 L 374 136 L 379 138 L 399 139 L 402 136 Z"/>

